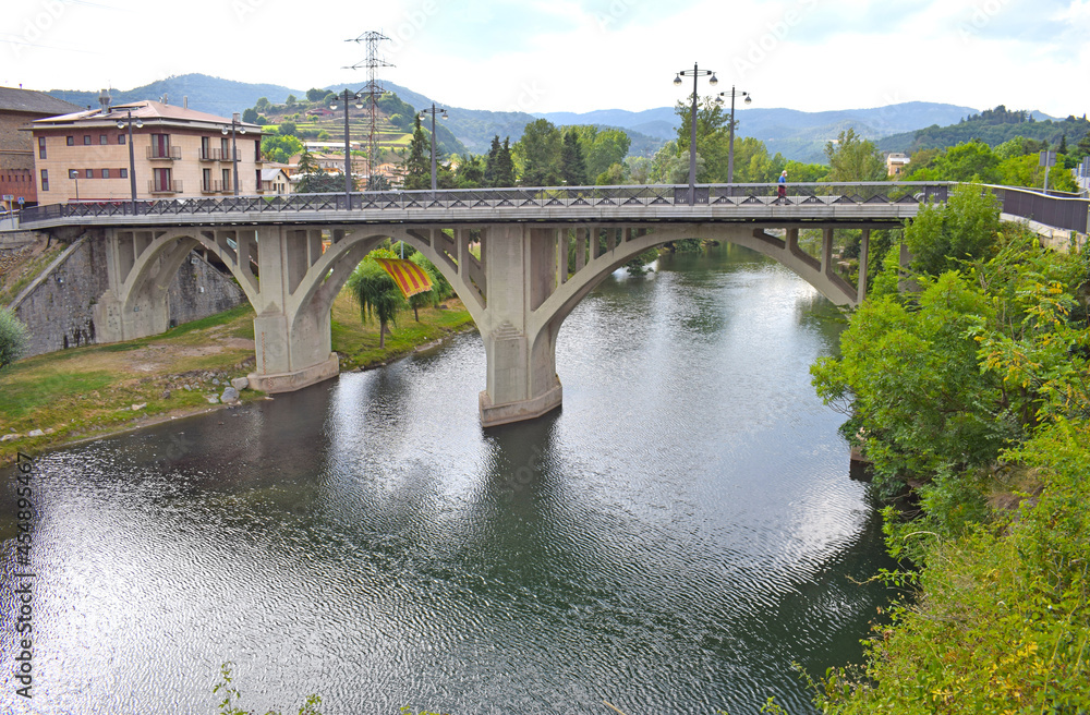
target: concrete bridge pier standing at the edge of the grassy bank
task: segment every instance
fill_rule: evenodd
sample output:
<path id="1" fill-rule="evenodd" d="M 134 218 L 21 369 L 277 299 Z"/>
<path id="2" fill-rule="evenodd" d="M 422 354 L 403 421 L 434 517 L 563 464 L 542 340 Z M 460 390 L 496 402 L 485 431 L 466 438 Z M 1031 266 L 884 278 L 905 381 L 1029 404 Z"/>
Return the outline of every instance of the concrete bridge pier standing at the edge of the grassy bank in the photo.
<path id="1" fill-rule="evenodd" d="M 280 226 L 257 230 L 257 362 L 249 376 L 254 389 L 290 392 L 340 371 L 330 348 L 328 306 L 304 300 L 298 291 L 306 271 L 320 256 L 319 231 Z"/>

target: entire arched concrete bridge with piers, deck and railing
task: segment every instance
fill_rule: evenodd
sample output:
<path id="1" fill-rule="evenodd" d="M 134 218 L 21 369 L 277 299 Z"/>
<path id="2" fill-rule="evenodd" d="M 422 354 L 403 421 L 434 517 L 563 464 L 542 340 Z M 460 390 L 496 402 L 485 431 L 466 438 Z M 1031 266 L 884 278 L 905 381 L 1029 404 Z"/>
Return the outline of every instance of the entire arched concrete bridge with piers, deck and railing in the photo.
<path id="1" fill-rule="evenodd" d="M 81 202 L 26 209 L 24 229 L 77 232 L 105 244 L 110 288 L 95 296 L 100 342 L 167 329 L 166 291 L 194 249 L 227 265 L 256 312 L 251 380 L 295 390 L 339 371 L 329 310 L 359 262 L 385 239 L 405 241 L 446 276 L 487 354 L 485 426 L 542 415 L 561 402 L 556 340 L 605 276 L 669 241 L 737 243 L 780 262 L 834 303 L 862 300 L 870 230 L 945 201 L 948 183 L 582 186 L 365 192 Z M 818 257 L 800 228 L 822 231 Z M 857 286 L 835 271 L 834 231 L 862 229 Z M 782 229 L 768 233 L 765 229 Z M 480 258 L 470 252 L 480 245 Z M 572 270 L 573 268 L 573 270 Z"/>

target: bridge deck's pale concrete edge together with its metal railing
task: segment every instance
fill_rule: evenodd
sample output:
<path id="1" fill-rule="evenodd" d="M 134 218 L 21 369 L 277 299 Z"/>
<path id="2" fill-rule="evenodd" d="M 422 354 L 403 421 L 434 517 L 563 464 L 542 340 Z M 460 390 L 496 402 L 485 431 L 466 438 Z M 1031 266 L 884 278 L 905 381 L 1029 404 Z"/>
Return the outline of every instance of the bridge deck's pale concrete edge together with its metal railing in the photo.
<path id="1" fill-rule="evenodd" d="M 78 202 L 23 211 L 31 228 L 72 223 L 97 226 L 178 226 L 222 222 L 497 222 L 586 220 L 903 220 L 919 206 L 945 201 L 947 182 L 862 182 L 791 184 L 786 197 L 777 184 L 688 187 L 559 186 L 388 191 L 288 196 L 225 196 L 159 201 Z"/>

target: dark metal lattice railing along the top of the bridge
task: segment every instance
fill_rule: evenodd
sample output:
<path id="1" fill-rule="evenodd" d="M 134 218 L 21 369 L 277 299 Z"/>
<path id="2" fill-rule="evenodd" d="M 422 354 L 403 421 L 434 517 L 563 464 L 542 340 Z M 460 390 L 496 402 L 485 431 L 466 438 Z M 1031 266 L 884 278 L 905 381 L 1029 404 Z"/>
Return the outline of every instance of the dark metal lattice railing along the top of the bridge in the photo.
<path id="1" fill-rule="evenodd" d="M 946 201 L 948 182 L 865 182 L 798 183 L 788 186 L 788 195 L 777 196 L 778 184 L 710 184 L 695 192 L 697 206 L 729 209 L 731 206 L 818 206 L 858 204 L 911 204 Z M 455 189 L 432 192 L 382 191 L 339 194 L 290 194 L 277 196 L 228 196 L 205 198 L 141 199 L 137 216 L 179 216 L 208 214 L 266 214 L 295 211 L 376 211 L 409 209 L 513 209 L 532 215 L 538 209 L 584 209 L 591 207 L 667 207 L 689 206 L 689 187 L 651 186 L 552 186 L 528 189 Z M 65 218 L 132 216 L 131 201 L 51 204 L 25 209 L 24 223 Z"/>

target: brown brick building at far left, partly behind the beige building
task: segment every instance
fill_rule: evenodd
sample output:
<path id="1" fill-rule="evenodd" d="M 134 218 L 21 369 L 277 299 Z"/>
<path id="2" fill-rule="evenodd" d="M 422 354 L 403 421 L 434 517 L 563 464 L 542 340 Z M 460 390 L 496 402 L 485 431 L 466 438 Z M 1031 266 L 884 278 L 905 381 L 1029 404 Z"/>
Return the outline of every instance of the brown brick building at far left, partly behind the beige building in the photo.
<path id="1" fill-rule="evenodd" d="M 31 122 L 78 110 L 41 92 L 0 87 L 0 210 L 19 208 L 20 198 L 26 206 L 38 201 Z"/>

